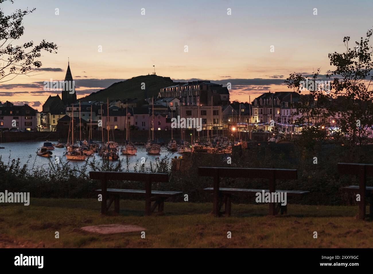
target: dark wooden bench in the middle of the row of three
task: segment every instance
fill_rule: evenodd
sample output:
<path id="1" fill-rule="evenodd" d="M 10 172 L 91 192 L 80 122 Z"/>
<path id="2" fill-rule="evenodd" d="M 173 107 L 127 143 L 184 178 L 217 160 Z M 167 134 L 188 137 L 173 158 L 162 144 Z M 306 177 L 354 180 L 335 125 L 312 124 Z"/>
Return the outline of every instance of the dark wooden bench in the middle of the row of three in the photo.
<path id="1" fill-rule="evenodd" d="M 276 191 L 276 179 L 297 179 L 296 169 L 269 169 L 269 168 L 210 168 L 199 167 L 199 176 L 213 177 L 213 188 L 203 189 L 205 192 L 213 194 L 213 214 L 215 216 L 231 216 L 231 198 L 232 194 L 256 194 L 263 189 L 244 189 L 244 188 L 220 188 L 220 178 L 263 178 L 269 180 L 269 189 L 264 189 L 264 192 L 286 192 L 287 196 L 299 196 L 308 193 L 309 191 L 291 191 L 278 190 Z M 225 211 L 220 212 L 222 205 L 225 204 Z M 287 214 L 287 204 L 282 206 L 278 203 L 269 203 L 269 214 L 277 215 Z"/>

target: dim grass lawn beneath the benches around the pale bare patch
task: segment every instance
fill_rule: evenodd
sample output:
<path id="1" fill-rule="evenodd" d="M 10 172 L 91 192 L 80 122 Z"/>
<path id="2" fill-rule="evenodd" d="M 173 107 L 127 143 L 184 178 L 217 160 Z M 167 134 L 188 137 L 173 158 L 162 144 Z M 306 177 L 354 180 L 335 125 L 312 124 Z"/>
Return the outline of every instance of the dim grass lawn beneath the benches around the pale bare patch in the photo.
<path id="1" fill-rule="evenodd" d="M 94 199 L 34 198 L 29 206 L 1 204 L 0 248 L 373 247 L 372 222 L 357 220 L 355 206 L 289 204 L 288 216 L 274 217 L 266 215 L 266 204 L 232 204 L 232 217 L 220 218 L 209 214 L 212 203 L 165 203 L 164 216 L 145 217 L 144 207 L 144 201 L 121 200 L 119 216 L 101 216 L 100 202 Z M 98 235 L 79 229 L 98 224 L 145 227 L 145 239 L 140 232 Z"/>

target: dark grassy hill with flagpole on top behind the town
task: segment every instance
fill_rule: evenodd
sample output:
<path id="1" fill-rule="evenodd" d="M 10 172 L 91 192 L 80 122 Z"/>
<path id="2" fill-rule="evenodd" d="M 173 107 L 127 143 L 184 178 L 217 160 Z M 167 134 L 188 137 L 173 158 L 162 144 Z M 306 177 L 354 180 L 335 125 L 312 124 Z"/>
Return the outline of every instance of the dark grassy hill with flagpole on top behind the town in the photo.
<path id="1" fill-rule="evenodd" d="M 145 90 L 141 89 L 142 83 L 145 83 Z M 81 101 L 106 101 L 113 99 L 138 98 L 145 99 L 151 96 L 157 97 L 162 87 L 177 84 L 170 77 L 157 75 L 142 75 L 132 77 L 122 82 L 114 83 L 106 89 L 93 92 L 90 95 L 81 98 Z"/>

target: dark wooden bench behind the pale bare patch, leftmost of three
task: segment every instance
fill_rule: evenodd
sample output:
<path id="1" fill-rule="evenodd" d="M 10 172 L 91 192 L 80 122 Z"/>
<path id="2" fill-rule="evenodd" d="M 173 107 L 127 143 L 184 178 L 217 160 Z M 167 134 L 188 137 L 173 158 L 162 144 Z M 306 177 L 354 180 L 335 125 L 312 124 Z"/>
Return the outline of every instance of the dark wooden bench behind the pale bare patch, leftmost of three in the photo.
<path id="1" fill-rule="evenodd" d="M 145 215 L 147 216 L 151 215 L 156 207 L 158 207 L 157 213 L 163 214 L 164 200 L 182 194 L 177 191 L 151 190 L 153 182 L 168 182 L 168 174 L 166 173 L 90 171 L 90 178 L 101 181 L 101 189 L 96 190 L 102 194 L 101 214 L 107 214 L 113 202 L 115 213 L 119 213 L 119 196 L 122 194 L 145 196 Z M 107 183 L 111 180 L 144 182 L 145 189 L 107 188 Z M 151 205 L 153 201 L 154 203 Z"/>

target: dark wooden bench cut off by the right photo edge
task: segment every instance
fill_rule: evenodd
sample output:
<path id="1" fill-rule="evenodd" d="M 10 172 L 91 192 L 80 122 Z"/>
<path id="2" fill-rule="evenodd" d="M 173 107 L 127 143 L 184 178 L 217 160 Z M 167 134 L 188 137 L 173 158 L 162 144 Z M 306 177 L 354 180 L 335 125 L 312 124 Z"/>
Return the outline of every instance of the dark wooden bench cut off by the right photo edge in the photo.
<path id="1" fill-rule="evenodd" d="M 346 175 L 358 175 L 359 185 L 342 187 L 342 191 L 360 194 L 358 219 L 364 220 L 369 216 L 373 218 L 373 187 L 367 187 L 367 176 L 373 176 L 373 165 L 338 163 L 338 172 Z M 369 199 L 369 215 L 366 214 L 366 201 Z"/>

